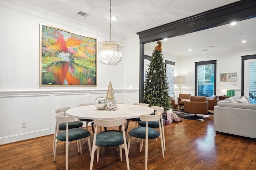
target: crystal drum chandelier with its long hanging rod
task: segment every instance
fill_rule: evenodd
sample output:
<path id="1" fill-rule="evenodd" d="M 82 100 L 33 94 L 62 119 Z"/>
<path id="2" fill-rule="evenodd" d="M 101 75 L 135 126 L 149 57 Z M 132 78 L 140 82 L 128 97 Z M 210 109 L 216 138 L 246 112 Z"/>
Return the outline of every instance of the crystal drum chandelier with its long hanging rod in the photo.
<path id="1" fill-rule="evenodd" d="M 111 41 L 111 0 L 110 0 L 110 36 L 109 41 L 98 43 L 99 59 L 102 64 L 117 65 L 123 57 L 122 43 Z"/>

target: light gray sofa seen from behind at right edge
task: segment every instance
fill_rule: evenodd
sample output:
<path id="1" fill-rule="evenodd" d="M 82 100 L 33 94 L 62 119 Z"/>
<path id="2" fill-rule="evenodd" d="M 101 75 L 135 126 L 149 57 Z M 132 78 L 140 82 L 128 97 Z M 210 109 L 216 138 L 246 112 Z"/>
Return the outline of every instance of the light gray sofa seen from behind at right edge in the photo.
<path id="1" fill-rule="evenodd" d="M 222 100 L 214 106 L 214 130 L 256 138 L 256 104 Z"/>

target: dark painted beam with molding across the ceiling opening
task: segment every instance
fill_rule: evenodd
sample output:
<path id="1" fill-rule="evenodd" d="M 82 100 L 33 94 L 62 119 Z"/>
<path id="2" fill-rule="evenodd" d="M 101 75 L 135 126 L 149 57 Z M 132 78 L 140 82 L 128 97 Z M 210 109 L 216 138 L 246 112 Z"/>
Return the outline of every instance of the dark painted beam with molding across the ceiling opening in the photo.
<path id="1" fill-rule="evenodd" d="M 194 16 L 138 32 L 140 43 L 150 43 L 256 17 L 256 0 L 241 0 Z"/>

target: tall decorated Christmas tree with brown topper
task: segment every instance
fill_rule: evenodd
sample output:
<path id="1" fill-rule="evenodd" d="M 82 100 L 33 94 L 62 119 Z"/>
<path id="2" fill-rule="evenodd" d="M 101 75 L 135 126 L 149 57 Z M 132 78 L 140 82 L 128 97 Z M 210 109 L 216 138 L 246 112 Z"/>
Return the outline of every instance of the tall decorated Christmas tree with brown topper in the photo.
<path id="1" fill-rule="evenodd" d="M 162 54 L 162 43 L 157 41 L 150 64 L 148 66 L 148 72 L 146 75 L 146 82 L 144 86 L 144 103 L 149 106 L 161 106 L 164 110 L 172 108 L 170 102 L 170 96 L 168 96 L 167 76 L 166 68 L 164 64 L 164 58 Z"/>

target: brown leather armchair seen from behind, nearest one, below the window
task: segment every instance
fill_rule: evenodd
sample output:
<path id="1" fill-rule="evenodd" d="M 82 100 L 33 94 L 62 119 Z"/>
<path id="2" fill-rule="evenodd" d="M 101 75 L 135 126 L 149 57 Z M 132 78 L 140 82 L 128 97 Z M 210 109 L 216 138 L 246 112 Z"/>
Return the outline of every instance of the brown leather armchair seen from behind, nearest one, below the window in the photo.
<path id="1" fill-rule="evenodd" d="M 185 113 L 208 114 L 206 96 L 191 96 L 190 101 L 184 101 Z"/>

